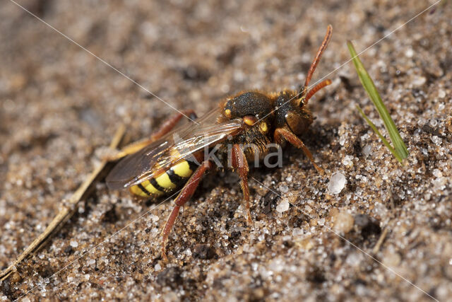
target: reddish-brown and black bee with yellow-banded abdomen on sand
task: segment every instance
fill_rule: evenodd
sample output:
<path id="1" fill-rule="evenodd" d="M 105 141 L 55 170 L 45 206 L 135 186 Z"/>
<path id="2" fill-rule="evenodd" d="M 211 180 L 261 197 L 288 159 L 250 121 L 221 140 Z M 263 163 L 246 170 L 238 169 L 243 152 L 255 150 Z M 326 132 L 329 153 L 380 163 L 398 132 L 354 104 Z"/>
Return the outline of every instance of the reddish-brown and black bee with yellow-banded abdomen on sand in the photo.
<path id="1" fill-rule="evenodd" d="M 256 156 L 261 159 L 268 154 L 268 146 L 292 144 L 304 151 L 319 173 L 323 172 L 314 163 L 311 152 L 299 135 L 307 132 L 314 120 L 308 108 L 309 99 L 321 88 L 331 84 L 328 79 L 309 90 L 309 81 L 331 40 L 331 33 L 331 25 L 328 25 L 304 86 L 299 91 L 244 91 L 225 98 L 217 108 L 196 119 L 196 122 L 177 127 L 184 115 L 196 118 L 192 110 L 179 112 L 166 120 L 150 139 L 138 141 L 118 156 L 126 155 L 107 175 L 106 182 L 110 190 L 129 188 L 138 197 L 153 199 L 176 192 L 182 187 L 162 229 L 164 260 L 167 260 L 167 239 L 179 209 L 194 194 L 201 178 L 215 167 L 227 167 L 239 175 L 249 223 L 252 220 L 248 163 Z M 210 157 L 213 151 L 217 156 L 215 161 Z"/>

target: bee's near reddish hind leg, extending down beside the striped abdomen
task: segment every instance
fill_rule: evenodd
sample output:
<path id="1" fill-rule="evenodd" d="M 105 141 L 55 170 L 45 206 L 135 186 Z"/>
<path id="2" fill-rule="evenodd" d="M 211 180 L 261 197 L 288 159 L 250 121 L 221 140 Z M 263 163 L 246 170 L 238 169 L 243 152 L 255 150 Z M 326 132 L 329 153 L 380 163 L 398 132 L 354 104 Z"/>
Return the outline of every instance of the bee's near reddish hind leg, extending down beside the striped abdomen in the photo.
<path id="1" fill-rule="evenodd" d="M 210 161 L 204 161 L 191 175 L 186 185 L 181 190 L 179 195 L 177 195 L 174 203 L 176 204 L 172 209 L 171 214 L 169 214 L 167 223 L 165 223 L 165 228 L 162 231 L 162 257 L 166 262 L 168 261 L 167 253 L 166 253 L 166 244 L 168 240 L 169 233 L 171 233 L 171 228 L 174 225 L 174 221 L 176 221 L 177 214 L 179 214 L 179 209 L 184 207 L 184 204 L 189 201 L 191 196 L 194 194 L 196 187 L 198 187 L 201 178 L 203 178 L 204 173 L 206 173 L 210 168 L 213 167 L 213 163 Z"/>

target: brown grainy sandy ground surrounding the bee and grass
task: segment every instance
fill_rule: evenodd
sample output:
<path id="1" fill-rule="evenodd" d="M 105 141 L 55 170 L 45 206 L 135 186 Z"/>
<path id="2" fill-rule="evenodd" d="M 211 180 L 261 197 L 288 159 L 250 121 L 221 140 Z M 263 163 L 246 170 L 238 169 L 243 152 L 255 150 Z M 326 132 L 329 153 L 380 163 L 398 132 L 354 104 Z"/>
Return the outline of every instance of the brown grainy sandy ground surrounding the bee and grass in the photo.
<path id="1" fill-rule="evenodd" d="M 361 55 L 410 151 L 405 167 L 355 109 L 383 128 L 352 64 L 341 66 L 350 58 L 345 41 L 364 50 L 433 1 L 19 3 L 175 108 L 199 113 L 244 89 L 297 88 L 328 23 L 333 38 L 314 81 L 340 68 L 311 101 L 317 119 L 302 137 L 326 174 L 290 148 L 283 168 L 252 170 L 254 227 L 237 178 L 216 174 L 179 216 L 165 264 L 160 230 L 171 202 L 146 205 L 100 183 L 0 283 L 0 300 L 450 299 L 450 3 Z M 93 170 L 119 122 L 139 139 L 174 110 L 12 2 L 0 7 L 4 269 Z M 331 194 L 336 172 L 346 185 Z"/>

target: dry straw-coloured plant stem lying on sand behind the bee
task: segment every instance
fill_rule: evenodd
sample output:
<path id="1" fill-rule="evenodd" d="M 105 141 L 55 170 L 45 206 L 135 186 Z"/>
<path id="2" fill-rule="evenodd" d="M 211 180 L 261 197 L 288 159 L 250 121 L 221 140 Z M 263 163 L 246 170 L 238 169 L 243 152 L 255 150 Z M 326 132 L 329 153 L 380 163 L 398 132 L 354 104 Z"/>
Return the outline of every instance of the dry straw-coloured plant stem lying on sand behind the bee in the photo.
<path id="1" fill-rule="evenodd" d="M 116 134 L 114 134 L 112 143 L 110 144 L 111 149 L 117 149 L 119 143 L 121 142 L 122 137 L 124 136 L 125 127 L 124 125 L 121 125 L 118 129 Z M 88 192 L 90 192 L 90 188 L 93 187 L 93 184 L 99 177 L 99 175 L 102 175 L 102 172 L 104 171 L 105 167 L 107 166 L 108 161 L 102 161 L 100 165 L 93 170 L 93 172 L 88 175 L 88 178 L 81 184 L 80 187 L 74 192 L 69 198 L 67 202 L 64 203 L 63 209 L 59 211 L 57 216 L 52 220 L 52 222 L 49 223 L 49 226 L 44 230 L 43 233 L 40 234 L 40 236 L 37 236 L 33 242 L 28 245 L 28 248 L 26 248 L 22 254 L 17 257 L 17 259 L 13 262 L 12 265 L 10 265 L 8 268 L 6 268 L 3 272 L 0 273 L 0 281 L 3 281 L 6 279 L 12 272 L 16 270 L 16 266 L 22 262 L 26 257 L 28 257 L 32 252 L 36 252 L 54 233 L 54 231 L 61 226 L 65 221 L 71 218 L 71 216 L 74 214 L 74 212 L 77 209 L 78 202 L 81 201 L 81 199 L 86 198 L 88 195 Z"/>

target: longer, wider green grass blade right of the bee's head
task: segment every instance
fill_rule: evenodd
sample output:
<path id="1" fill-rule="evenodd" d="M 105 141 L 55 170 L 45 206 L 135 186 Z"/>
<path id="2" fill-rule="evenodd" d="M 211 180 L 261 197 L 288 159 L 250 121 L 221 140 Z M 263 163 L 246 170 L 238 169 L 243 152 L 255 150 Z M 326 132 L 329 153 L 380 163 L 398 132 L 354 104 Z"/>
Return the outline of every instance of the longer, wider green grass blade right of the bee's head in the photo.
<path id="1" fill-rule="evenodd" d="M 380 115 L 381 119 L 383 120 L 384 126 L 386 127 L 386 130 L 389 133 L 389 137 L 391 138 L 391 141 L 393 142 L 393 145 L 394 145 L 393 150 L 395 149 L 396 153 L 398 153 L 398 158 L 407 158 L 408 157 L 408 149 L 405 146 L 405 143 L 403 142 L 402 138 L 400 137 L 400 134 L 398 133 L 396 124 L 394 124 L 393 119 L 391 119 L 391 115 L 389 115 L 388 110 L 386 109 L 385 105 L 383 104 L 383 101 L 381 100 L 379 92 L 376 90 L 376 87 L 374 85 L 374 81 L 372 81 L 371 77 L 369 76 L 366 69 L 364 68 L 364 65 L 362 64 L 361 60 L 357 56 L 355 47 L 353 47 L 352 42 L 347 41 L 347 47 L 352 56 L 352 61 L 353 61 L 353 64 L 355 65 L 355 69 L 359 76 L 359 81 L 361 81 L 362 86 L 364 87 L 364 89 L 367 91 L 367 94 L 369 95 L 369 98 L 371 99 L 372 103 L 374 103 L 376 110 L 378 110 L 379 115 Z M 372 127 L 372 129 L 374 129 L 374 131 L 375 131 L 376 128 Z M 381 137 L 381 134 L 379 134 L 379 136 Z"/>

